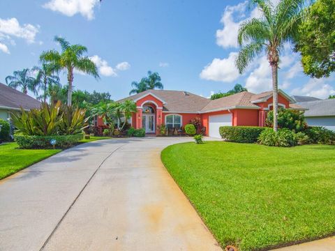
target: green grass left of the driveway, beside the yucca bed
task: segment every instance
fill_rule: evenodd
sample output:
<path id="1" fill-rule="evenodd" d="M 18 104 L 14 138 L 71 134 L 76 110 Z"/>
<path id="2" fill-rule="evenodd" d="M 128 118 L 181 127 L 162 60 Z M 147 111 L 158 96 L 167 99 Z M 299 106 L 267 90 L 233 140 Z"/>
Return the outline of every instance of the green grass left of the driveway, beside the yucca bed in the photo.
<path id="1" fill-rule="evenodd" d="M 90 137 L 90 139 L 80 140 L 80 143 L 99 139 L 109 139 L 109 137 Z M 29 150 L 17 149 L 17 147 L 15 142 L 0 145 L 0 180 L 61 151 L 61 149 Z"/>

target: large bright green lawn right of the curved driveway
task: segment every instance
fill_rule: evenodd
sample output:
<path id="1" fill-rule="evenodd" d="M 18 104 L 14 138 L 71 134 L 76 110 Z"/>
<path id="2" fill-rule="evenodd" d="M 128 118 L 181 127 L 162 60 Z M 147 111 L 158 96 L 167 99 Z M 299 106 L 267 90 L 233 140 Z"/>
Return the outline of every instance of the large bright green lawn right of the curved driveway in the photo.
<path id="1" fill-rule="evenodd" d="M 165 167 L 218 242 L 262 250 L 335 234 L 335 146 L 168 146 Z"/>

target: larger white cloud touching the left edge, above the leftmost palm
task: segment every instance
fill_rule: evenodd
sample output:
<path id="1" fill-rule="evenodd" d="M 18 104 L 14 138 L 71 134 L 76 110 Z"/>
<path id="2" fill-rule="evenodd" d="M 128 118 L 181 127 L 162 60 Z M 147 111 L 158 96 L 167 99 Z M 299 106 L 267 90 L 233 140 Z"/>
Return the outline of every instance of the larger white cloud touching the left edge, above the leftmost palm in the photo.
<path id="1" fill-rule="evenodd" d="M 14 36 L 17 38 L 23 38 L 28 43 L 34 43 L 36 34 L 38 33 L 40 26 L 34 26 L 32 24 L 23 24 L 17 21 L 15 17 L 3 20 L 0 18 L 0 37 L 7 38 Z M 15 42 L 11 42 L 15 43 Z"/>

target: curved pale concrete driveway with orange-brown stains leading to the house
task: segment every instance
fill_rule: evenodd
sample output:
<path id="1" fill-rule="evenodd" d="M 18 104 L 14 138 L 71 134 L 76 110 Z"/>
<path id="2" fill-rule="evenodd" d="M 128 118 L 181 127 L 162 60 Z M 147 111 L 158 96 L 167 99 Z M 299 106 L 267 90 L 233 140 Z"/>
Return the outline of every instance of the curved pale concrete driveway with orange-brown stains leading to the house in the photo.
<path id="1" fill-rule="evenodd" d="M 0 181 L 0 250 L 221 250 L 161 163 L 190 138 L 107 139 Z"/>

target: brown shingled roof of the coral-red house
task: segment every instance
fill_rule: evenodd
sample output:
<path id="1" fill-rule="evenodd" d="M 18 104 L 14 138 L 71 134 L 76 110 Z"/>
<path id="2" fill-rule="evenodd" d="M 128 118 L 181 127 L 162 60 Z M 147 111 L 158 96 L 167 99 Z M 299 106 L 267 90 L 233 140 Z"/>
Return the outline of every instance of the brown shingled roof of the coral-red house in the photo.
<path id="1" fill-rule="evenodd" d="M 291 102 L 294 101 L 283 91 L 279 90 L 285 98 Z M 272 91 L 255 94 L 248 91 L 242 91 L 231 96 L 210 100 L 202 96 L 195 95 L 188 91 L 167 91 L 167 90 L 147 90 L 137 93 L 133 96 L 118 100 L 140 100 L 149 94 L 163 102 L 163 111 L 165 112 L 184 112 L 184 113 L 205 113 L 216 112 L 228 109 L 260 109 L 258 102 L 265 102 L 271 98 Z M 303 109 L 299 105 L 293 105 L 292 109 Z"/>

